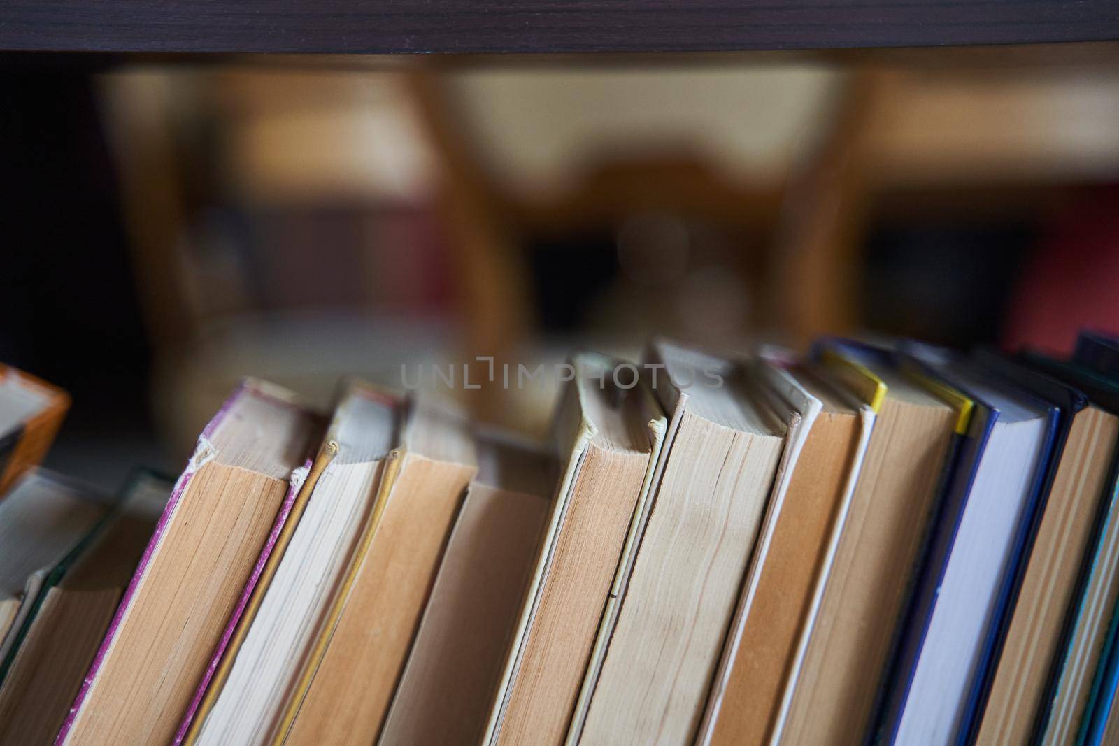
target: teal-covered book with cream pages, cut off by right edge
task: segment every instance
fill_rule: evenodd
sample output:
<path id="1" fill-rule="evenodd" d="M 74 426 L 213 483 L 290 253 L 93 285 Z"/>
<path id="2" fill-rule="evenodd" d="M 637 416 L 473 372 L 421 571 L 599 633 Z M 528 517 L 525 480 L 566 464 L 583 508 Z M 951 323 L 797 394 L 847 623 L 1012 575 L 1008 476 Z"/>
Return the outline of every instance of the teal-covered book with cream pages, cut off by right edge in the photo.
<path id="1" fill-rule="evenodd" d="M 1091 402 L 1111 414 L 1119 413 L 1119 385 L 1076 363 L 1041 355 L 1022 359 L 1062 381 L 1075 386 Z M 1104 497 L 1064 625 L 1060 651 L 1042 698 L 1036 735 L 1041 744 L 1066 744 L 1075 738 L 1088 717 L 1092 680 L 1103 665 L 1108 623 L 1119 603 L 1119 454 L 1112 456 Z"/>

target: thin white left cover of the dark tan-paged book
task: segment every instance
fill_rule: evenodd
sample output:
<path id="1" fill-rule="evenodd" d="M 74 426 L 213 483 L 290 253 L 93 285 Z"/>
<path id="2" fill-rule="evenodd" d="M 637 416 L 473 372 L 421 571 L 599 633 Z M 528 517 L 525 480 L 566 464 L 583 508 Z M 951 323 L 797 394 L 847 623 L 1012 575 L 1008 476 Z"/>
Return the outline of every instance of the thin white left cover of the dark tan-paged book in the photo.
<path id="1" fill-rule="evenodd" d="M 718 710 L 723 705 L 723 695 L 726 691 L 727 678 L 734 665 L 734 657 L 739 652 L 739 644 L 742 640 L 742 632 L 745 629 L 746 616 L 750 614 L 750 605 L 758 591 L 758 582 L 761 578 L 761 567 L 765 561 L 765 555 L 773 539 L 773 529 L 777 528 L 778 518 L 781 514 L 781 506 L 784 495 L 789 491 L 789 482 L 793 471 L 797 469 L 797 461 L 800 452 L 805 447 L 805 441 L 812 429 L 817 415 L 820 413 L 821 403 L 818 398 L 797 383 L 797 379 L 775 365 L 759 360 L 754 370 L 763 386 L 768 386 L 772 394 L 777 396 L 774 409 L 779 416 L 789 419 L 788 436 L 784 452 L 781 454 L 781 462 L 778 464 L 777 480 L 773 484 L 773 494 L 770 497 L 769 507 L 765 510 L 765 518 L 762 520 L 761 536 L 758 540 L 758 549 L 750 560 L 746 570 L 746 579 L 739 598 L 739 606 L 734 612 L 734 620 L 731 622 L 731 632 L 726 635 L 726 645 L 723 649 L 723 657 L 720 660 L 718 670 L 715 672 L 715 680 L 712 684 L 711 695 L 707 697 L 707 708 L 704 712 L 703 723 L 699 726 L 698 743 L 707 744 L 711 740 L 712 729 Z"/>

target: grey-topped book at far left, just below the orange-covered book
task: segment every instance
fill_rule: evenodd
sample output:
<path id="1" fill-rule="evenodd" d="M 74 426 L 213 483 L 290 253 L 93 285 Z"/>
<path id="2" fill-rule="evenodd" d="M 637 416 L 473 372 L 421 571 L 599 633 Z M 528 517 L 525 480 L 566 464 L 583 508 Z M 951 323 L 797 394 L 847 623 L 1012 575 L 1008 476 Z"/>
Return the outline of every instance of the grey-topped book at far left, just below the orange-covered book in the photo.
<path id="1" fill-rule="evenodd" d="M 92 488 L 46 469 L 25 472 L 0 501 L 0 673 L 43 595 L 58 583 L 110 509 L 111 501 Z"/>

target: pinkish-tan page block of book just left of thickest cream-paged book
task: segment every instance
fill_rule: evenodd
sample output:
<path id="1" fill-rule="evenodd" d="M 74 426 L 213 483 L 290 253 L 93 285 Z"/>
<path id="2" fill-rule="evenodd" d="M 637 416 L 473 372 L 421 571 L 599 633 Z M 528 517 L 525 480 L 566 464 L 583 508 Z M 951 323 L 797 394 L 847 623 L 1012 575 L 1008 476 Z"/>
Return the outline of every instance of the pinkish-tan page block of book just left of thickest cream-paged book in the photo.
<path id="1" fill-rule="evenodd" d="M 617 361 L 574 357 L 590 441 L 542 584 L 502 715 L 498 744 L 560 744 L 571 725 L 595 632 L 649 466 L 650 417 L 643 387 L 613 381 Z"/>

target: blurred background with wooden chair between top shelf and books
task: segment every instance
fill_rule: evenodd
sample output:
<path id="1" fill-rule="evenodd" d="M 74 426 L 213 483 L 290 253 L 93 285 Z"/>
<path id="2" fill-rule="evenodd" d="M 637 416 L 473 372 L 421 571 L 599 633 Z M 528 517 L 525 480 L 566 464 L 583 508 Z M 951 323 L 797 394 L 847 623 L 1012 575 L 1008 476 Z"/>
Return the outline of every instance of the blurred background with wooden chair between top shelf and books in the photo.
<path id="1" fill-rule="evenodd" d="M 327 410 L 451 363 L 539 433 L 554 379 L 461 366 L 1064 351 L 1119 329 L 1117 58 L 0 56 L 0 359 L 74 395 L 48 465 L 112 488 L 177 472 L 244 375 Z"/>

